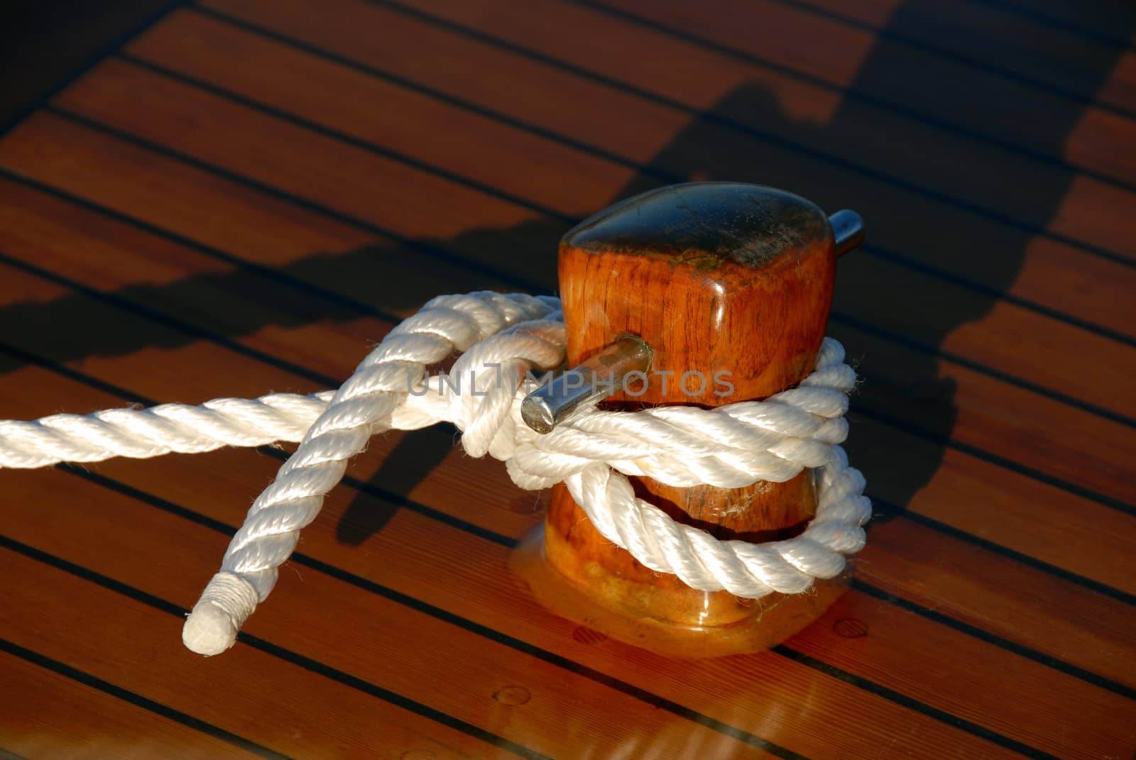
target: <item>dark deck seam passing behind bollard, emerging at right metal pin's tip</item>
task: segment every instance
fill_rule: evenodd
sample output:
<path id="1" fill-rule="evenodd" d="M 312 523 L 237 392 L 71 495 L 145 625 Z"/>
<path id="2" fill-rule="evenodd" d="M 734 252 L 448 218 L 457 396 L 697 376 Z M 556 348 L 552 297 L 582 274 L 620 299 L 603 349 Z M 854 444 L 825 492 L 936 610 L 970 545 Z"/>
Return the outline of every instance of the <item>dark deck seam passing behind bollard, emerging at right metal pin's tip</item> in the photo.
<path id="1" fill-rule="evenodd" d="M 200 12 L 203 16 L 216 18 L 217 20 L 224 22 L 224 23 L 226 23 L 226 24 L 228 24 L 231 26 L 235 26 L 237 28 L 245 30 L 248 32 L 258 34 L 258 35 L 260 35 L 262 37 L 266 37 L 268 40 L 273 40 L 274 42 L 278 42 L 278 43 L 281 43 L 283 45 L 286 45 L 286 47 L 290 47 L 290 48 L 294 48 L 294 49 L 300 50 L 302 52 L 306 52 L 306 53 L 309 53 L 309 55 L 323 58 L 323 59 L 325 59 L 325 60 L 327 60 L 329 62 L 336 64 L 339 66 L 343 66 L 344 68 L 350 68 L 352 70 L 359 72 L 360 74 L 366 74 L 366 75 L 368 75 L 368 76 L 370 76 L 370 77 L 373 77 L 375 80 L 387 82 L 390 84 L 394 84 L 394 85 L 403 87 L 406 90 L 410 90 L 410 91 L 416 92 L 418 94 L 425 95 L 425 97 L 431 98 L 433 100 L 436 100 L 438 102 L 442 102 L 442 103 L 445 103 L 445 105 L 449 105 L 449 106 L 453 106 L 454 108 L 460 108 L 460 109 L 469 111 L 471 114 L 477 114 L 478 116 L 484 116 L 487 119 L 498 122 L 498 123 L 507 125 L 507 126 L 515 127 L 517 130 L 521 130 L 524 132 L 528 132 L 529 134 L 533 134 L 535 136 L 543 137 L 545 140 L 549 140 L 550 142 L 558 143 L 558 144 L 563 145 L 566 148 L 571 148 L 574 150 L 578 150 L 580 152 L 584 152 L 584 153 L 587 153 L 590 156 L 593 156 L 595 158 L 610 161 L 610 162 L 612 162 L 612 164 L 615 164 L 617 166 L 623 166 L 623 167 L 626 167 L 626 168 L 635 169 L 640 174 L 654 177 L 654 178 L 657 178 L 657 179 L 659 179 L 661 182 L 671 183 L 671 184 L 686 182 L 686 177 L 684 177 L 682 175 L 678 175 L 678 174 L 675 174 L 675 173 L 671 173 L 671 172 L 667 172 L 667 170 L 662 170 L 662 169 L 659 169 L 659 168 L 655 168 L 655 167 L 652 167 L 652 166 L 648 166 L 645 164 L 640 164 L 637 161 L 628 159 L 628 158 L 626 158 L 624 156 L 619 156 L 619 154 L 613 153 L 611 151 L 604 150 L 602 148 L 598 148 L 598 147 L 592 145 L 590 143 L 582 142 L 582 141 L 578 141 L 578 140 L 574 140 L 574 139 L 571 139 L 568 135 L 559 134 L 559 133 L 557 133 L 554 131 L 546 130 L 546 128 L 537 126 L 535 124 L 531 124 L 529 122 L 526 122 L 524 119 L 509 116 L 508 114 L 503 114 L 503 112 L 493 110 L 491 108 L 487 108 L 487 107 L 484 107 L 484 106 L 479 106 L 479 105 L 477 105 L 475 102 L 471 102 L 471 101 L 468 101 L 468 100 L 463 100 L 463 99 L 458 98 L 456 95 L 448 94 L 448 93 L 442 92 L 440 90 L 435 90 L 435 89 L 429 87 L 427 85 L 412 82 L 412 81 L 407 80 L 407 78 L 404 78 L 402 76 L 399 76 L 396 74 L 392 74 L 390 72 L 385 72 L 384 69 L 377 68 L 375 66 L 370 66 L 370 65 L 367 65 L 367 64 L 359 62 L 359 61 L 353 60 L 351 58 L 348 58 L 345 56 L 341 56 L 341 55 L 339 55 L 336 52 L 333 52 L 333 51 L 329 51 L 329 50 L 326 50 L 326 49 L 323 49 L 323 48 L 309 44 L 307 42 L 303 42 L 302 40 L 298 40 L 296 37 L 292 37 L 292 36 L 285 35 L 285 34 L 283 34 L 281 32 L 276 32 L 275 30 L 270 30 L 270 28 L 260 26 L 259 24 L 247 22 L 247 20 L 244 20 L 242 18 L 237 18 L 235 16 L 229 16 L 228 14 L 225 14 L 225 12 L 222 12 L 222 11 L 217 11 L 217 10 L 214 10 L 212 8 L 207 8 L 207 7 L 202 7 L 202 6 L 192 6 L 192 7 L 187 8 L 186 10 L 194 11 L 194 12 Z M 1063 165 L 1062 161 L 1058 161 L 1058 164 Z M 1068 167 L 1068 166 L 1064 166 L 1064 168 L 1069 168 L 1070 170 L 1076 170 L 1072 167 Z M 1081 172 L 1085 173 L 1085 170 L 1081 170 Z M 1134 192 L 1136 192 L 1136 185 L 1133 185 L 1131 190 Z M 1020 306 L 1024 309 L 1028 309 L 1030 311 L 1035 311 L 1035 312 L 1037 312 L 1039 315 L 1050 317 L 1052 319 L 1064 321 L 1064 323 L 1067 323 L 1069 325 L 1072 325 L 1075 327 L 1080 327 L 1083 329 L 1086 329 L 1088 332 L 1095 333 L 1095 334 L 1101 335 L 1103 337 L 1109 337 L 1111 340 L 1122 342 L 1126 345 L 1136 346 L 1136 336 L 1126 335 L 1124 333 L 1120 333 L 1118 331 L 1111 329 L 1109 327 L 1104 327 L 1104 326 L 1094 324 L 1094 323 L 1092 323 L 1089 320 L 1081 319 L 1079 317 L 1076 317 L 1076 316 L 1062 312 L 1062 311 L 1060 311 L 1058 309 L 1050 308 L 1047 306 L 1044 306 L 1043 303 L 1038 303 L 1036 301 L 1030 301 L 1029 299 L 1020 298 L 1020 297 L 1013 295 L 1011 293 L 1003 293 L 1003 292 L 999 291 L 997 289 L 989 287 L 987 285 L 984 285 L 980 282 L 968 279 L 968 278 L 959 276 L 959 275 L 954 275 L 954 274 L 952 274 L 952 273 L 950 273 L 950 272 L 947 272 L 945 269 L 939 269 L 937 267 L 933 267 L 933 266 L 927 265 L 927 264 L 925 264 L 922 261 L 919 261 L 918 259 L 904 256 L 904 254 L 899 253 L 896 251 L 893 251 L 893 250 L 889 250 L 889 249 L 884 249 L 884 248 L 880 248 L 879 245 L 872 245 L 872 244 L 861 244 L 859 247 L 859 250 L 862 251 L 862 252 L 869 253 L 871 256 L 876 256 L 877 258 L 884 259 L 885 261 L 891 261 L 893 264 L 897 264 L 900 266 L 904 266 L 904 267 L 908 267 L 908 268 L 913 269 L 916 272 L 926 274 L 926 275 L 928 275 L 930 277 L 935 277 L 935 278 L 938 278 L 938 279 L 945 279 L 945 281 L 947 281 L 947 282 L 950 282 L 952 284 L 959 285 L 960 287 L 966 287 L 966 289 L 972 290 L 972 291 L 975 291 L 977 293 L 982 293 L 983 295 L 987 295 L 987 297 L 991 297 L 991 298 L 994 298 L 994 299 L 997 299 L 997 300 L 1003 300 L 1003 301 L 1006 301 L 1009 303 L 1013 303 L 1016 306 Z"/>

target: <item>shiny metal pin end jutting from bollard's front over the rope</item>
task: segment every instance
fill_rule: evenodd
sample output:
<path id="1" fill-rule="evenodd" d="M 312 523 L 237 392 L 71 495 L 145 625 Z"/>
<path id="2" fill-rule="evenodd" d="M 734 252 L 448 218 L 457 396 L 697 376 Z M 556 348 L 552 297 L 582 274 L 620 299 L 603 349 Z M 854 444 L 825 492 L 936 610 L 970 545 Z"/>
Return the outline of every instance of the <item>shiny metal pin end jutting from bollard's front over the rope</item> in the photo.
<path id="1" fill-rule="evenodd" d="M 525 396 L 520 417 L 537 433 L 551 433 L 580 406 L 623 390 L 630 376 L 642 375 L 646 382 L 653 353 L 646 341 L 624 336 Z"/>

